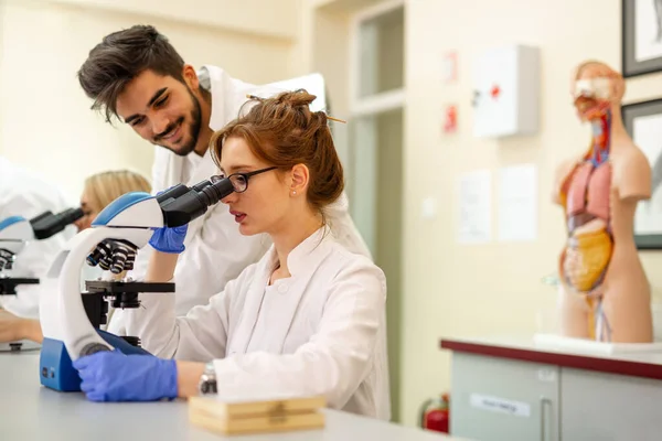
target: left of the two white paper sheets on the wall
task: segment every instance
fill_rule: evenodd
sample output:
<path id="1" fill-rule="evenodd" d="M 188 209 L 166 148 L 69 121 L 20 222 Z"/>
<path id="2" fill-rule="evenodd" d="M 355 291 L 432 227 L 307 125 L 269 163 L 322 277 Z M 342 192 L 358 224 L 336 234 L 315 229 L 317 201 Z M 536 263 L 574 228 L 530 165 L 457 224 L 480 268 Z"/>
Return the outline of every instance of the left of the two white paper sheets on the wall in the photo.
<path id="1" fill-rule="evenodd" d="M 491 240 L 492 174 L 489 170 L 477 170 L 460 176 L 458 241 L 480 244 Z"/>

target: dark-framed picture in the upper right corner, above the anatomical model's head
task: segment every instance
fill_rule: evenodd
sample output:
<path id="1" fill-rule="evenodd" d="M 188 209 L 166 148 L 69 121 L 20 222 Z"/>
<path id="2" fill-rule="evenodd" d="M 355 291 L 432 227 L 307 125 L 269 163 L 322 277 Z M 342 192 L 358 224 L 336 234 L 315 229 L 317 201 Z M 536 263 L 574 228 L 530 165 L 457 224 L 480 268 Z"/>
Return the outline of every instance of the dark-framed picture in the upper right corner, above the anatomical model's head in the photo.
<path id="1" fill-rule="evenodd" d="M 623 77 L 662 71 L 662 0 L 621 0 Z"/>

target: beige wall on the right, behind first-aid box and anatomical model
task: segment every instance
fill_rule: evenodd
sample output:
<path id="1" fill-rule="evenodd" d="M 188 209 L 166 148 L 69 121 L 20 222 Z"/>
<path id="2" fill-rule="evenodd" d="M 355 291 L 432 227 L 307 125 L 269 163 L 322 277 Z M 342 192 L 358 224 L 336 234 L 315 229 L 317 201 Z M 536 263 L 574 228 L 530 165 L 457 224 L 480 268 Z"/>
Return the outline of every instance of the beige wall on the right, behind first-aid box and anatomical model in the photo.
<path id="1" fill-rule="evenodd" d="M 416 0 L 407 2 L 405 147 L 405 272 L 402 353 L 403 418 L 449 386 L 449 354 L 439 337 L 536 331 L 538 309 L 555 293 L 541 278 L 556 268 L 564 240 L 562 212 L 552 205 L 553 168 L 581 152 L 589 128 L 575 118 L 568 95 L 573 67 L 587 57 L 620 68 L 620 1 Z M 538 136 L 501 142 L 471 136 L 472 56 L 492 45 L 537 45 L 542 54 Z M 442 83 L 446 51 L 459 53 L 459 82 Z M 628 82 L 628 100 L 662 96 L 662 75 Z M 459 131 L 440 135 L 441 109 L 459 105 Z M 538 239 L 520 245 L 456 243 L 457 178 L 473 169 L 538 166 Z M 438 215 L 421 219 L 427 196 Z M 495 207 L 494 207 L 495 208 Z M 496 212 L 494 211 L 493 218 Z M 643 254 L 653 286 L 662 287 L 659 254 Z M 526 269 L 525 269 L 526 267 Z"/>

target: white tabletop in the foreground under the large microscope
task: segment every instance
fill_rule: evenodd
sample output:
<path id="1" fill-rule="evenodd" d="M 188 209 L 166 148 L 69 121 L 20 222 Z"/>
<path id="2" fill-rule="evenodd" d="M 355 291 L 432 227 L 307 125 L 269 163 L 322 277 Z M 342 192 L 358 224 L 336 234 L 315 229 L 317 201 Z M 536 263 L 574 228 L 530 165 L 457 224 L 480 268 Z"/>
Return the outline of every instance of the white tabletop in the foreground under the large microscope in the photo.
<path id="1" fill-rule="evenodd" d="M 440 441 L 441 433 L 324 410 L 321 430 L 222 435 L 189 423 L 186 401 L 100 404 L 81 392 L 57 392 L 39 383 L 39 352 L 0 353 L 0 439 L 129 441 L 237 439 L 241 441 Z"/>

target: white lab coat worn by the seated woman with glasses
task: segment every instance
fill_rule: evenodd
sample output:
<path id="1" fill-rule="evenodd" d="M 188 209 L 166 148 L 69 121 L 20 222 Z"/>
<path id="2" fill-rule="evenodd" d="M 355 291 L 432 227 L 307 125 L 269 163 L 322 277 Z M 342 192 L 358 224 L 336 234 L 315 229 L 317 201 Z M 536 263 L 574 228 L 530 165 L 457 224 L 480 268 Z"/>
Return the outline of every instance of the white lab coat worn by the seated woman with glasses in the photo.
<path id="1" fill-rule="evenodd" d="M 388 420 L 382 270 L 325 228 L 290 252 L 291 277 L 268 287 L 277 262 L 271 247 L 183 318 L 174 294 L 141 294 L 127 331 L 161 357 L 214 359 L 222 396 L 323 395 L 331 408 Z"/>

